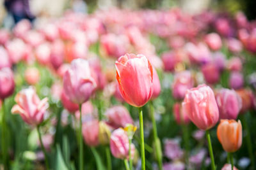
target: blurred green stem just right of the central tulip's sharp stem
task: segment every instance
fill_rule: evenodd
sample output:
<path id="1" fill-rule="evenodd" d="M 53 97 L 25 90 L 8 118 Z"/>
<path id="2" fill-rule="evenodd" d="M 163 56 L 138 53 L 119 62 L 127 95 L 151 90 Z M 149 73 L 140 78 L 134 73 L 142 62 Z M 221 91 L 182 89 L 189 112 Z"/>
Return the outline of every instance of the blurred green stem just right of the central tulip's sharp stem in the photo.
<path id="1" fill-rule="evenodd" d="M 152 101 L 150 101 L 149 105 L 150 105 L 150 113 L 151 113 L 151 119 L 152 119 L 152 131 L 154 135 L 154 143 L 156 146 L 156 157 L 158 162 L 158 168 L 159 170 L 163 170 L 161 143 L 159 142 L 159 138 L 157 136 L 157 126 L 156 126 L 156 119 L 154 115 L 154 105 Z"/>

